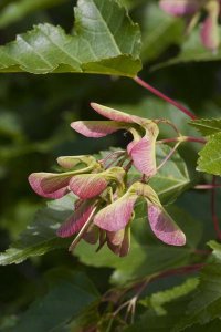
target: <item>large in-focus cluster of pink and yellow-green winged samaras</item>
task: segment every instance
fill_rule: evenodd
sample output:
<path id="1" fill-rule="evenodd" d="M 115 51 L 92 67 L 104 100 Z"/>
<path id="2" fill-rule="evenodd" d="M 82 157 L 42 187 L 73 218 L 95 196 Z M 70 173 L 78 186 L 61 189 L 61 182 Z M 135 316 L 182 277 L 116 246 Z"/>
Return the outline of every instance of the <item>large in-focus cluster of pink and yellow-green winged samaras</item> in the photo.
<path id="1" fill-rule="evenodd" d="M 90 243 L 99 241 L 98 248 L 107 243 L 114 253 L 126 256 L 135 203 L 143 198 L 147 203 L 148 220 L 156 237 L 168 245 L 183 246 L 183 232 L 164 209 L 154 189 L 141 180 L 157 173 L 157 124 L 98 104 L 93 103 L 92 107 L 108 121 L 77 121 L 71 124 L 72 128 L 94 138 L 126 129 L 134 139 L 127 151 L 116 151 L 103 160 L 96 160 L 93 156 L 59 157 L 57 164 L 63 173 L 30 175 L 31 187 L 43 197 L 57 199 L 70 191 L 78 197 L 73 214 L 60 227 L 57 236 L 65 238 L 77 234 L 70 250 L 83 238 Z M 108 166 L 113 159 L 116 165 Z M 140 181 L 127 185 L 127 172 L 131 164 L 140 172 Z"/>

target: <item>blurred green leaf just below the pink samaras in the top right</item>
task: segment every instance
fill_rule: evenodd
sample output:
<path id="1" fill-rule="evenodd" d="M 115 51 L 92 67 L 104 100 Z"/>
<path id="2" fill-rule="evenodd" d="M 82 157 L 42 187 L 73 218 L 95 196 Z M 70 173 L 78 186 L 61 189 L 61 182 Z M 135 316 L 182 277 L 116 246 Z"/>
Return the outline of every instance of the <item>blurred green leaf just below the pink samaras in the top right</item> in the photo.
<path id="1" fill-rule="evenodd" d="M 221 29 L 219 29 L 221 35 Z M 202 62 L 202 61 L 219 61 L 221 60 L 221 45 L 217 52 L 212 52 L 202 45 L 200 40 L 200 29 L 196 29 L 190 33 L 187 41 L 182 44 L 181 51 L 178 56 L 170 59 L 152 66 L 152 70 L 166 68 L 168 65 L 188 63 L 188 62 Z"/>

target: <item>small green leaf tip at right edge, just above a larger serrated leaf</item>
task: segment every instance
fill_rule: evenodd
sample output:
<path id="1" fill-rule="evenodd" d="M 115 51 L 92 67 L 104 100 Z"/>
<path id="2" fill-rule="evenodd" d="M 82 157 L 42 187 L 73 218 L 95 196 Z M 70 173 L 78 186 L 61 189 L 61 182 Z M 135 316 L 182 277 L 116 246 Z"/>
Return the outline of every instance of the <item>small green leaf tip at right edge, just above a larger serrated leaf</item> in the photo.
<path id="1" fill-rule="evenodd" d="M 210 136 L 221 132 L 221 118 L 200 118 L 189 123 L 203 136 Z"/>

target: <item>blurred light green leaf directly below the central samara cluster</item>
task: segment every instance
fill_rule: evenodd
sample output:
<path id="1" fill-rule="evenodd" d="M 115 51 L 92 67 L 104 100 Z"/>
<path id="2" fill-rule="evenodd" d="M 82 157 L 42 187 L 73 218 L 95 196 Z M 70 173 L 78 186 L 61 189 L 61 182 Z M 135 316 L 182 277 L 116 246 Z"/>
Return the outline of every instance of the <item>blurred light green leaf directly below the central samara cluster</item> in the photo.
<path id="1" fill-rule="evenodd" d="M 160 245 L 139 243 L 134 237 L 131 238 L 130 252 L 124 259 L 115 256 L 107 247 L 103 247 L 99 252 L 95 252 L 95 246 L 92 247 L 81 241 L 74 255 L 86 266 L 115 269 L 112 274 L 112 282 L 117 284 L 125 284 L 182 264 L 190 253 L 188 248 L 180 249 Z"/>

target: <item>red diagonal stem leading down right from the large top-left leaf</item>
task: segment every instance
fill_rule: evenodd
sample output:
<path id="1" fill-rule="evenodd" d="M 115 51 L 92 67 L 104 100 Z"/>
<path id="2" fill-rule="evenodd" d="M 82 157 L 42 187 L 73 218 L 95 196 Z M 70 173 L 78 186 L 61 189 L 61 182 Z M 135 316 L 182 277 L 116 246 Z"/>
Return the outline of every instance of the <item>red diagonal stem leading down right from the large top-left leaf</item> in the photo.
<path id="1" fill-rule="evenodd" d="M 192 120 L 196 120 L 197 116 L 191 113 L 190 111 L 188 111 L 185 106 L 182 106 L 180 103 L 171 100 L 170 97 L 168 97 L 167 95 L 165 95 L 164 93 L 161 93 L 160 91 L 158 91 L 157 89 L 155 89 L 154 86 L 149 85 L 148 83 L 146 83 L 145 81 L 143 81 L 140 77 L 136 76 L 135 82 L 137 82 L 139 85 L 141 85 L 143 87 L 149 90 L 151 93 L 154 93 L 155 95 L 157 95 L 158 97 L 160 97 L 161 100 L 166 101 L 167 103 L 172 104 L 173 106 L 176 106 L 178 110 L 180 110 L 182 113 L 185 113 L 187 116 L 189 116 Z"/>

